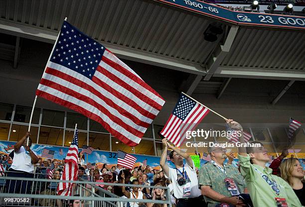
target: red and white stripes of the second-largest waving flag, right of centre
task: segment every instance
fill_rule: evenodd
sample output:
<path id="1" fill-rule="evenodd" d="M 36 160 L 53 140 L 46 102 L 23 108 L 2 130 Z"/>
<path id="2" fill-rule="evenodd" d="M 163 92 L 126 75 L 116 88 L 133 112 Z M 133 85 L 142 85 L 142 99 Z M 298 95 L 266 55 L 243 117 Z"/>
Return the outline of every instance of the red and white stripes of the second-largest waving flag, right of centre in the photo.
<path id="1" fill-rule="evenodd" d="M 170 114 L 160 134 L 176 146 L 180 146 L 185 139 L 186 132 L 194 130 L 209 111 L 197 102 L 184 120 Z"/>

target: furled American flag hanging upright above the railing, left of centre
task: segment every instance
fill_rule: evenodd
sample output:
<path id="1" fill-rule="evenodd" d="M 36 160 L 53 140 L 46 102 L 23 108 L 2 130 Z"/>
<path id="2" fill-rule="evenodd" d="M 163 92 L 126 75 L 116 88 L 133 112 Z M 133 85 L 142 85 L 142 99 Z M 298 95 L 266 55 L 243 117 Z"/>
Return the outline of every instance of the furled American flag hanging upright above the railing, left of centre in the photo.
<path id="1" fill-rule="evenodd" d="M 74 138 L 69 147 L 68 154 L 65 159 L 65 167 L 60 180 L 77 180 L 78 176 L 78 132 L 74 133 Z M 57 185 L 57 195 L 71 196 L 73 183 L 59 183 Z"/>

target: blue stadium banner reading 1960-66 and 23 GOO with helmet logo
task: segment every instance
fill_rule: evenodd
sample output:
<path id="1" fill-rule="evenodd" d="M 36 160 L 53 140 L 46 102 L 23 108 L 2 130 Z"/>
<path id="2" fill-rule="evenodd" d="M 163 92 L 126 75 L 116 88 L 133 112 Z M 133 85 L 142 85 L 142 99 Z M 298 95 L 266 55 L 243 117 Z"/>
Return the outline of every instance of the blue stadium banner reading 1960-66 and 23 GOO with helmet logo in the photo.
<path id="1" fill-rule="evenodd" d="M 190 10 L 223 21 L 235 23 L 237 25 L 305 29 L 305 17 L 303 16 L 233 11 L 199 0 L 154 1 L 170 4 L 175 7 Z"/>

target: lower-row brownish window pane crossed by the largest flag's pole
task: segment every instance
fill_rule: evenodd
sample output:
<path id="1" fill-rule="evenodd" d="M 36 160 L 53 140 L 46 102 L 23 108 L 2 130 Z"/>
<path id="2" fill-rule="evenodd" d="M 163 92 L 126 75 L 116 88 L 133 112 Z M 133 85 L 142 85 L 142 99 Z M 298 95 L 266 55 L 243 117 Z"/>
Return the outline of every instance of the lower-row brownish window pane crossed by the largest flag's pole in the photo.
<path id="1" fill-rule="evenodd" d="M 14 132 L 13 130 L 16 132 Z M 28 130 L 28 126 L 13 124 L 11 126 L 11 133 L 10 133 L 9 140 L 18 141 L 20 138 L 23 138 L 23 136 L 26 134 L 27 130 Z M 30 132 L 31 132 L 32 143 L 36 143 L 37 135 L 38 135 L 38 127 L 31 127 Z"/>

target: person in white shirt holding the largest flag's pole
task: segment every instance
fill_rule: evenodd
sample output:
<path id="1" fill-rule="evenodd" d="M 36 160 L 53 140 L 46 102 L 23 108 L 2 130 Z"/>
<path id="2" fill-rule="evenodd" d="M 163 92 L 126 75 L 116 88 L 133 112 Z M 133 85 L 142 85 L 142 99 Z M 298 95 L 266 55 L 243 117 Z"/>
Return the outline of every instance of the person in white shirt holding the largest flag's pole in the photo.
<path id="1" fill-rule="evenodd" d="M 30 132 L 27 132 L 14 145 L 14 158 L 7 171 L 7 177 L 33 178 L 34 164 L 38 163 L 39 159 L 30 149 L 32 145 L 32 140 L 29 138 L 30 135 Z M 28 145 L 26 144 L 27 137 L 29 138 Z M 28 194 L 32 181 L 6 180 L 5 185 L 6 193 Z"/>

